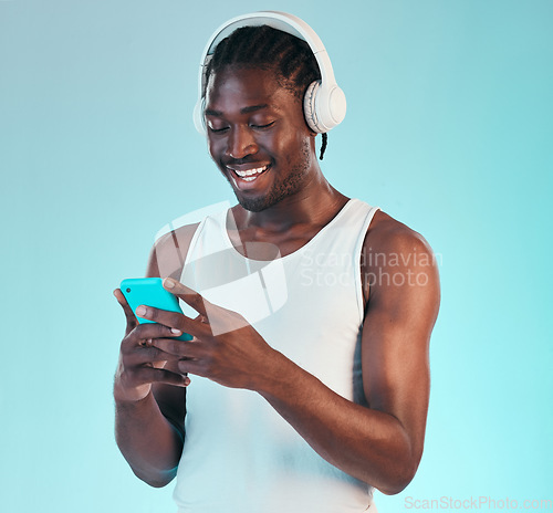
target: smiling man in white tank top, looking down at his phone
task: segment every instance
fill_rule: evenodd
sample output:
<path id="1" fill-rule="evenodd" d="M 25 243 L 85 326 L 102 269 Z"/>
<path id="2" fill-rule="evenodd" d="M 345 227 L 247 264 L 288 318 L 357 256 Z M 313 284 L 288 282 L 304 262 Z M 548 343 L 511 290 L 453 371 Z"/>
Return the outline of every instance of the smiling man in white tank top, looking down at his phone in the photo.
<path id="1" fill-rule="evenodd" d="M 322 175 L 303 109 L 320 77 L 280 30 L 219 43 L 202 115 L 239 205 L 158 240 L 147 271 L 198 316 L 143 306 L 138 325 L 115 291 L 117 443 L 154 486 L 178 473 L 181 513 L 366 511 L 421 458 L 438 272 L 422 237 Z"/>

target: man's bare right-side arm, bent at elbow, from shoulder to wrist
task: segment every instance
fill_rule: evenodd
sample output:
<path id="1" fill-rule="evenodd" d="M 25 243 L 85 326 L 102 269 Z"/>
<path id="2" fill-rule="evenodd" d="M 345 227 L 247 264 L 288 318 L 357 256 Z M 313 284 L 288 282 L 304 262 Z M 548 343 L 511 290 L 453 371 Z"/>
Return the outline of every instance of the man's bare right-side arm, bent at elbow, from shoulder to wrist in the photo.
<path id="1" fill-rule="evenodd" d="M 395 221 L 387 224 L 366 243 L 367 251 L 372 245 L 387 254 L 386 262 L 378 262 L 380 273 L 375 265 L 366 269 L 372 290 L 362 367 L 368 408 L 338 396 L 280 354 L 258 391 L 324 459 L 394 494 L 410 482 L 422 454 L 428 344 L 438 313 L 439 279 L 424 239 Z M 373 273 L 383 279 L 375 281 Z"/>

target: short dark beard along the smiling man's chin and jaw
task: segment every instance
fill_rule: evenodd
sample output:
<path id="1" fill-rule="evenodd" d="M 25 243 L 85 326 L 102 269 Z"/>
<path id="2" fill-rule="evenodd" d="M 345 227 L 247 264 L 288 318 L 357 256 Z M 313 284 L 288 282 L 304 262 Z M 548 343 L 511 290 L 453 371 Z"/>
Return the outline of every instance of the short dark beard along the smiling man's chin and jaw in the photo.
<path id="1" fill-rule="evenodd" d="M 250 212 L 261 212 L 281 202 L 284 198 L 294 196 L 303 189 L 309 181 L 309 168 L 311 167 L 310 144 L 305 142 L 301 151 L 301 158 L 292 165 L 292 169 L 285 178 L 275 177 L 273 185 L 265 196 L 248 198 L 239 195 L 234 189 L 240 206 Z M 230 180 L 229 180 L 230 182 Z M 232 187 L 232 186 L 231 186 Z"/>

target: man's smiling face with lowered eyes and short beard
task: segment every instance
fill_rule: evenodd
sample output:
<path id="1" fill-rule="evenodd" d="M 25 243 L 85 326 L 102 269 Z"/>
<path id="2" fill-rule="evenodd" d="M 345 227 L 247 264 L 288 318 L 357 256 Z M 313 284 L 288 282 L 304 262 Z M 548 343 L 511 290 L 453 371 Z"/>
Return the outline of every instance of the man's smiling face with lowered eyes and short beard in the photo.
<path id="1" fill-rule="evenodd" d="M 209 153 L 244 209 L 270 208 L 314 176 L 314 134 L 273 71 L 228 66 L 211 75 L 206 122 Z"/>

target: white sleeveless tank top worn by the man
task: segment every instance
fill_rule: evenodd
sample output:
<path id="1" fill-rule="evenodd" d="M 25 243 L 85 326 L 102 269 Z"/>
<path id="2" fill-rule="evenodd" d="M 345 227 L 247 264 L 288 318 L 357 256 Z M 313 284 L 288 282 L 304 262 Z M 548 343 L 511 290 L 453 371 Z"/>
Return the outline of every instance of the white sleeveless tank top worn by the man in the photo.
<path id="1" fill-rule="evenodd" d="M 352 199 L 304 247 L 269 262 L 233 248 L 220 212 L 197 228 L 181 281 L 242 314 L 269 345 L 335 392 L 366 404 L 361 250 L 376 210 Z M 321 458 L 260 395 L 190 377 L 174 493 L 179 513 L 367 510 L 372 486 Z"/>

